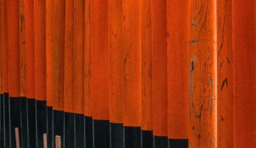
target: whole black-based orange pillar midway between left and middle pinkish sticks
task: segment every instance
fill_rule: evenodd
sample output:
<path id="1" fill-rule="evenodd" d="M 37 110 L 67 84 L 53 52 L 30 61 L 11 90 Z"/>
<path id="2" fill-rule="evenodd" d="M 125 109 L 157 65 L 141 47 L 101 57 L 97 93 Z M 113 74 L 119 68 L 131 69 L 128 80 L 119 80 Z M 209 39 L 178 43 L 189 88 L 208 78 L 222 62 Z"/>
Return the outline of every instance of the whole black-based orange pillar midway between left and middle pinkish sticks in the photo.
<path id="1" fill-rule="evenodd" d="M 34 84 L 34 0 L 24 1 L 26 50 L 26 99 L 28 105 L 28 146 L 36 147 L 36 102 Z"/>

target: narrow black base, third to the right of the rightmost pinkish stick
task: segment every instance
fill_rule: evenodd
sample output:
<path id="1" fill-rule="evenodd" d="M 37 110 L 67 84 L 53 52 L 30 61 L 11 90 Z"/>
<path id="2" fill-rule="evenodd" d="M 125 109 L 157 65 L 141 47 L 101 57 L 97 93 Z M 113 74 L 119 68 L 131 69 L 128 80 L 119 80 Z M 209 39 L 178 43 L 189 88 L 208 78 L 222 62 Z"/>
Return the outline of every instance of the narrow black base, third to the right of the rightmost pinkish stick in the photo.
<path id="1" fill-rule="evenodd" d="M 91 116 L 85 116 L 86 121 L 86 128 L 85 128 L 85 141 L 86 141 L 86 147 L 93 147 L 93 133 L 92 133 L 92 117 Z"/>

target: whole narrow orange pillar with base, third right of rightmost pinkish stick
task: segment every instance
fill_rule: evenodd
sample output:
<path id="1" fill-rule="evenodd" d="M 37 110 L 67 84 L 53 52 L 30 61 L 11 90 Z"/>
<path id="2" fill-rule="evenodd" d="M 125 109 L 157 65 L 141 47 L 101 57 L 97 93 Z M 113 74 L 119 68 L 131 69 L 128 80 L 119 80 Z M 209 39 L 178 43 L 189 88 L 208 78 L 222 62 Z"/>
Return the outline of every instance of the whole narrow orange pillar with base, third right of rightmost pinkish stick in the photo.
<path id="1" fill-rule="evenodd" d="M 93 145 L 92 133 L 92 69 L 91 69 L 91 5 L 90 0 L 84 3 L 84 116 L 86 147 Z"/>

